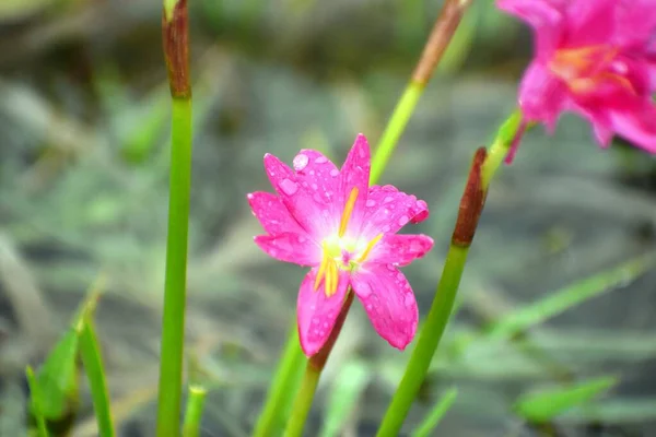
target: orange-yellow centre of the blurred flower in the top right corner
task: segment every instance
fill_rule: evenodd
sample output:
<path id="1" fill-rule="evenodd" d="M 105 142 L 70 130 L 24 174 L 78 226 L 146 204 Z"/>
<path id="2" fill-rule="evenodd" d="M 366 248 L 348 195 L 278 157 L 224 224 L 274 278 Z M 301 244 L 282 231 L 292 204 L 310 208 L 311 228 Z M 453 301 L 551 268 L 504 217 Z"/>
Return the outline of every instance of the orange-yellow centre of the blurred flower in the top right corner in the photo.
<path id="1" fill-rule="evenodd" d="M 635 94 L 624 75 L 625 63 L 617 60 L 618 54 L 619 49 L 609 45 L 563 48 L 555 51 L 549 68 L 576 94 L 594 91 L 602 83 L 620 85 Z"/>

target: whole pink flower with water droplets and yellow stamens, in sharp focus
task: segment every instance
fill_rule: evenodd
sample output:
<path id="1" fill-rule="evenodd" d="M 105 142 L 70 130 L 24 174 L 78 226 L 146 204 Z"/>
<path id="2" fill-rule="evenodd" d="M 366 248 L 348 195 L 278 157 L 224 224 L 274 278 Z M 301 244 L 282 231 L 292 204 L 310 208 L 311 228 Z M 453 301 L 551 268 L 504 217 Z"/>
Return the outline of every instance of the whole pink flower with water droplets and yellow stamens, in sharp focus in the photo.
<path id="1" fill-rule="evenodd" d="M 426 203 L 389 185 L 370 187 L 370 147 L 362 134 L 341 169 L 313 150 L 302 150 L 293 164 L 292 170 L 265 155 L 278 196 L 254 192 L 248 202 L 267 232 L 255 243 L 278 260 L 312 267 L 297 300 L 303 351 L 312 356 L 321 349 L 349 287 L 378 334 L 403 350 L 419 315 L 398 267 L 424 256 L 433 240 L 396 233 L 408 222 L 425 220 Z"/>

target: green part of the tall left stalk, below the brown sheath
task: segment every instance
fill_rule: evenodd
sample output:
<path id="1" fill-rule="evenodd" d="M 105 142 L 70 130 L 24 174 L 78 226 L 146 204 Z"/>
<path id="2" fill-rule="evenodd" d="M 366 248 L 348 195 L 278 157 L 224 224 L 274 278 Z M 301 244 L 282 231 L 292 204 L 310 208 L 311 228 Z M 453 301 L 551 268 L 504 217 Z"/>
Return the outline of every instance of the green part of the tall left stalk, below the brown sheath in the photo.
<path id="1" fill-rule="evenodd" d="M 168 238 L 160 362 L 157 436 L 179 435 L 191 185 L 191 97 L 173 98 Z"/>

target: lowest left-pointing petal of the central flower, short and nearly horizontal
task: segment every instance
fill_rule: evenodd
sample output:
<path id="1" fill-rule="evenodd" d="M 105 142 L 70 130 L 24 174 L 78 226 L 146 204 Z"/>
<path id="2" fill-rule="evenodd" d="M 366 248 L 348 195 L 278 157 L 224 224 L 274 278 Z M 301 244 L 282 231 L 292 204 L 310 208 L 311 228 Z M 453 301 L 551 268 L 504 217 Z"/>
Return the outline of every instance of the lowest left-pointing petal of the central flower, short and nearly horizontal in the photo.
<path id="1" fill-rule="evenodd" d="M 300 265 L 318 265 L 321 262 L 321 248 L 305 232 L 258 235 L 254 240 L 267 255 L 280 261 Z"/>

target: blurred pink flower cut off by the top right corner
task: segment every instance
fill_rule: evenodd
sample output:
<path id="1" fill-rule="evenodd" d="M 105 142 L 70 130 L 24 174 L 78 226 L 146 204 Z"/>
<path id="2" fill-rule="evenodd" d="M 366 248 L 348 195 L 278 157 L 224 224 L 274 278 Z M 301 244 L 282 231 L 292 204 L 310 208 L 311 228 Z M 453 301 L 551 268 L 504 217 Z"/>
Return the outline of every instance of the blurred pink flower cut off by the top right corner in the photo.
<path id="1" fill-rule="evenodd" d="M 528 121 L 553 130 L 573 110 L 606 146 L 618 133 L 656 153 L 654 0 L 497 0 L 535 33 L 519 87 Z"/>

